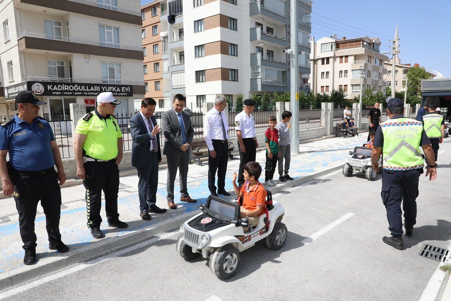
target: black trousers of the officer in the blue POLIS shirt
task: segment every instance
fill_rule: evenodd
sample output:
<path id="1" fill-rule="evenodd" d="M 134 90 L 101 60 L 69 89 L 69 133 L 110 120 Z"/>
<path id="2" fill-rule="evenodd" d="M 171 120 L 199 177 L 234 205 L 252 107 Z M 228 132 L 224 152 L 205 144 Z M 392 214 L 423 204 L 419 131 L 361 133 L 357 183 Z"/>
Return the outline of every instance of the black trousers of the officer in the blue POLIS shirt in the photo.
<path id="1" fill-rule="evenodd" d="M 53 170 L 45 176 L 15 176 L 13 184 L 23 249 L 36 248 L 34 220 L 39 201 L 46 215 L 49 241 L 60 241 L 61 188 L 58 173 Z"/>

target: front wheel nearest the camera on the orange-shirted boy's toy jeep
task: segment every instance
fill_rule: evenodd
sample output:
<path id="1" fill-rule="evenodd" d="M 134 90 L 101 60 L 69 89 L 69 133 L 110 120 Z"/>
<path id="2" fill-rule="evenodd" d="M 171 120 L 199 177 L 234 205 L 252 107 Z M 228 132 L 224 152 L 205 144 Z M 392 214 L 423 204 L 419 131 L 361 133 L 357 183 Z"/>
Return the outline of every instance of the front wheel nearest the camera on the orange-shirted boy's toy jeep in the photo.
<path id="1" fill-rule="evenodd" d="M 226 245 L 210 256 L 210 268 L 217 278 L 227 279 L 235 274 L 239 264 L 239 251 Z"/>

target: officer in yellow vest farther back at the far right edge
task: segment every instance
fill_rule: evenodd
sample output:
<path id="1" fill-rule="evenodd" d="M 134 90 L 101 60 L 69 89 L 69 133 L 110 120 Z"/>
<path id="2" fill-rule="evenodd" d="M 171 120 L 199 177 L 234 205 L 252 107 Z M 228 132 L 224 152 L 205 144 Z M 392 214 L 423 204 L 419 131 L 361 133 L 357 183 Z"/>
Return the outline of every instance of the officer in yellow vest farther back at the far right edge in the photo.
<path id="1" fill-rule="evenodd" d="M 436 109 L 437 105 L 431 104 L 429 106 L 429 114 L 423 116 L 423 127 L 429 140 L 431 140 L 435 161 L 437 161 L 438 149 L 440 148 L 438 144 L 443 142 L 443 137 L 445 136 L 445 120 L 442 115 L 437 114 Z M 428 161 L 426 161 L 426 164 L 428 164 Z"/>

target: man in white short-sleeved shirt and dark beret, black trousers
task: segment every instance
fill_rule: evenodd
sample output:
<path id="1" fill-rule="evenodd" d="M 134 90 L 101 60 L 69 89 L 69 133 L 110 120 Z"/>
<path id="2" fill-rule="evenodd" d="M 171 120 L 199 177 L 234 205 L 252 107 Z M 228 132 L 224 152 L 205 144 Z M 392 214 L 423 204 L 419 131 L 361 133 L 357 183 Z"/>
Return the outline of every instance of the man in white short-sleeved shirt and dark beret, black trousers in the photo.
<path id="1" fill-rule="evenodd" d="M 258 142 L 255 137 L 255 121 L 251 115 L 255 108 L 255 101 L 252 99 L 244 100 L 243 111 L 235 117 L 236 137 L 239 147 L 239 172 L 238 187 L 244 184 L 244 165 L 247 162 L 255 161 Z"/>

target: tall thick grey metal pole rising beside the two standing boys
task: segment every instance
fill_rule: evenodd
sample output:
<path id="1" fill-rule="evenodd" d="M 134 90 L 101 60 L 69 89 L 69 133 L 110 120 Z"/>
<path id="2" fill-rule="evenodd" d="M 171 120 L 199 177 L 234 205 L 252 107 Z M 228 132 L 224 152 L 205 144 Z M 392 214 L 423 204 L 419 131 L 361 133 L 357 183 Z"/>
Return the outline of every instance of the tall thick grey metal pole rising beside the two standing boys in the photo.
<path id="1" fill-rule="evenodd" d="M 299 46 L 298 46 L 298 1 L 290 1 L 290 28 L 291 28 L 291 53 L 290 53 L 290 107 L 291 113 L 291 153 L 299 153 L 299 100 L 296 99 L 296 92 L 299 92 Z"/>

